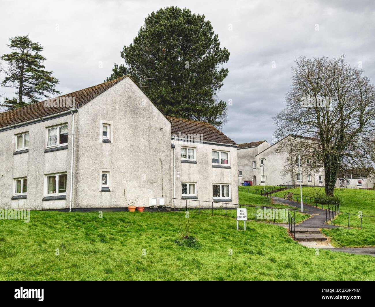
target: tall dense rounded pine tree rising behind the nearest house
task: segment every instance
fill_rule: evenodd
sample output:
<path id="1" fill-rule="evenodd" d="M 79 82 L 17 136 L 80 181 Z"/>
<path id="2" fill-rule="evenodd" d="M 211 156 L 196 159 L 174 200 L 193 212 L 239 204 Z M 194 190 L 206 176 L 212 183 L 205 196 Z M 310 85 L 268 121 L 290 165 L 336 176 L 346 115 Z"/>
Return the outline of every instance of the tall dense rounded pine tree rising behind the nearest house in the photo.
<path id="1" fill-rule="evenodd" d="M 220 126 L 226 103 L 218 101 L 228 69 L 221 67 L 229 52 L 220 48 L 217 34 L 204 15 L 166 7 L 145 19 L 107 81 L 129 74 L 145 80 L 150 99 L 166 115 L 207 121 Z"/>

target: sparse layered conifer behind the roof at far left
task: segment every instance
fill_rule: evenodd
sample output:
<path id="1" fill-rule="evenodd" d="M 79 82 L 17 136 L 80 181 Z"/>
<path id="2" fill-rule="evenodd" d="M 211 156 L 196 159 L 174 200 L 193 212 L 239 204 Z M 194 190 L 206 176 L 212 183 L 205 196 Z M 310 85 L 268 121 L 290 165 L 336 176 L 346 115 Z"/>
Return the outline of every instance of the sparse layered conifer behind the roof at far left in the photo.
<path id="1" fill-rule="evenodd" d="M 15 88 L 17 97 L 5 98 L 1 106 L 17 109 L 38 102 L 43 96 L 49 97 L 48 94 L 60 94 L 55 90 L 58 80 L 52 77 L 52 72 L 44 70 L 42 62 L 46 58 L 40 55 L 44 48 L 39 43 L 32 42 L 28 35 L 15 36 L 7 46 L 13 52 L 1 56 L 7 67 L 4 69 L 6 77 L 0 85 Z"/>

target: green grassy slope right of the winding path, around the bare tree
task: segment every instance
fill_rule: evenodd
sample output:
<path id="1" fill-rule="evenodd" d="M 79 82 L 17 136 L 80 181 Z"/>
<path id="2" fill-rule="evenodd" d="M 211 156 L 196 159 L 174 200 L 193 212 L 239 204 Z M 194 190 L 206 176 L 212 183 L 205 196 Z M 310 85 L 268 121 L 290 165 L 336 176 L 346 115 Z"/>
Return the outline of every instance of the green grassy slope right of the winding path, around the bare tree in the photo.
<path id="1" fill-rule="evenodd" d="M 276 196 L 283 197 L 285 193 L 299 193 L 299 188 L 276 193 Z M 324 188 L 303 187 L 302 194 L 318 197 L 317 194 L 324 194 Z M 375 216 L 375 191 L 357 189 L 335 189 L 334 195 L 339 198 L 340 210 L 342 212 Z M 348 215 L 340 214 L 333 220 L 333 224 L 348 226 Z M 375 246 L 375 218 L 363 217 L 362 230 L 358 216 L 350 216 L 351 229 L 324 229 L 323 232 L 332 238 L 335 246 Z"/>

